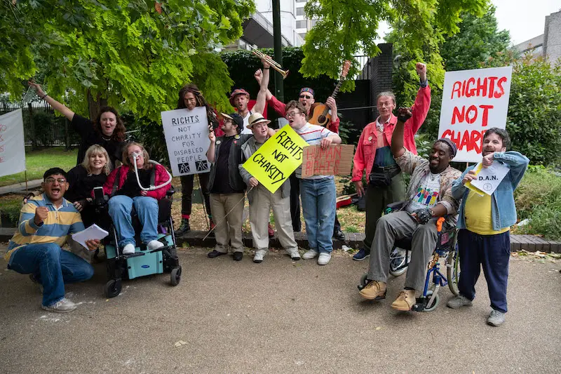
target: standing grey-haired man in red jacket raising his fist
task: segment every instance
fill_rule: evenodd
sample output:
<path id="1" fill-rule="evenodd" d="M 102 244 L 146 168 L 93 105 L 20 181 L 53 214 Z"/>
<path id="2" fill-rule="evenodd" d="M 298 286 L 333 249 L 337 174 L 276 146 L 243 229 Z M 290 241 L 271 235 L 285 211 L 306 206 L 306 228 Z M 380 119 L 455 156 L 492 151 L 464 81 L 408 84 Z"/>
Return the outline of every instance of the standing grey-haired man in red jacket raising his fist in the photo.
<path id="1" fill-rule="evenodd" d="M 426 65 L 417 62 L 420 88 L 412 107 L 413 116 L 405 122 L 405 148 L 417 154 L 415 133 L 423 124 L 428 108 L 431 107 L 431 88 L 426 80 Z M 396 96 L 391 92 L 379 93 L 377 97 L 379 117 L 368 123 L 360 135 L 353 159 L 353 178 L 358 196 L 366 194 L 366 227 L 363 248 L 353 256 L 361 261 L 370 256 L 370 247 L 376 232 L 376 222 L 388 203 L 405 199 L 405 180 L 391 154 L 391 135 L 398 118 Z M 366 172 L 367 187 L 363 187 L 363 173 Z"/>

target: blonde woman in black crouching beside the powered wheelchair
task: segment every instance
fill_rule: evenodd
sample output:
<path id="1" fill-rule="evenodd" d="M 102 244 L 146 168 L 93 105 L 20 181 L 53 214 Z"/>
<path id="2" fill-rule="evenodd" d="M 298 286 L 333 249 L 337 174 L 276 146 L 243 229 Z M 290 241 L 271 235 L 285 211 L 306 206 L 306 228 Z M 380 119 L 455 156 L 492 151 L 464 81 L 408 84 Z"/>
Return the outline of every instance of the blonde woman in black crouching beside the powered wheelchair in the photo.
<path id="1" fill-rule="evenodd" d="M 65 193 L 65 199 L 74 203 L 74 207 L 82 216 L 85 227 L 89 227 L 93 223 L 102 227 L 107 226 L 97 217 L 91 196 L 95 187 L 102 187 L 105 184 L 111 168 L 109 154 L 104 147 L 96 144 L 86 150 L 82 163 L 74 166 L 67 173 L 69 188 Z"/>

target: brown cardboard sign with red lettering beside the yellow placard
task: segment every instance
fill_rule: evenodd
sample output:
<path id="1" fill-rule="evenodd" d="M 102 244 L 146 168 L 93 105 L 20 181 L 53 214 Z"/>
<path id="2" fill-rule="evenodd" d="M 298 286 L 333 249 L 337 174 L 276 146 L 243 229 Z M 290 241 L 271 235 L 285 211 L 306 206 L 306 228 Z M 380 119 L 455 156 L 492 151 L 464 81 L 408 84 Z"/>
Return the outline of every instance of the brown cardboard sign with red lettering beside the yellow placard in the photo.
<path id="1" fill-rule="evenodd" d="M 304 148 L 302 178 L 313 175 L 349 175 L 353 165 L 354 145 L 330 145 L 321 149 L 319 145 Z"/>

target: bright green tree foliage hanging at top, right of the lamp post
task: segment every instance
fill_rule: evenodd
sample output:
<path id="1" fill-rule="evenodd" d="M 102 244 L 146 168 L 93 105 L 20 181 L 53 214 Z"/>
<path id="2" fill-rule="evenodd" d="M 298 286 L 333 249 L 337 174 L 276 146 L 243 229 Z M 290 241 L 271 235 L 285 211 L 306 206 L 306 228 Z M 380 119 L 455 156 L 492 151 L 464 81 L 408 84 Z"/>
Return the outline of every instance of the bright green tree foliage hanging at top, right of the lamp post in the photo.
<path id="1" fill-rule="evenodd" d="M 424 61 L 431 70 L 431 81 L 444 79 L 439 47 L 445 35 L 459 31 L 461 12 L 481 15 L 487 0 L 319 0 L 309 1 L 308 18 L 317 19 L 316 26 L 306 34 L 302 47 L 302 74 L 327 74 L 336 79 L 343 60 L 353 60 L 359 51 L 375 56 L 379 22 L 385 20 L 398 30 L 400 43 L 408 46 L 412 60 L 408 71 L 416 78 L 414 62 Z M 356 62 L 356 61 L 354 61 Z M 350 74 L 360 67 L 353 64 Z M 346 88 L 353 86 L 346 82 Z"/>

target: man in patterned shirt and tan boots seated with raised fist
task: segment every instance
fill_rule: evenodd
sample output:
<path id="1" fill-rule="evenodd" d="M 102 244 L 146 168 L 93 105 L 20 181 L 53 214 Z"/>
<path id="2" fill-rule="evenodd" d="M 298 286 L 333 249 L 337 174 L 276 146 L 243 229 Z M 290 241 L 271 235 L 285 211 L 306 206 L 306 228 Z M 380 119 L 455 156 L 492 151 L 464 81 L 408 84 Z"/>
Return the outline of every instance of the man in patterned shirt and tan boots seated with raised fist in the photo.
<path id="1" fill-rule="evenodd" d="M 398 310 L 411 310 L 415 304 L 415 290 L 423 290 L 426 268 L 436 246 L 438 234 L 435 222 L 456 214 L 458 201 L 452 196 L 452 182 L 461 172 L 450 166 L 456 156 L 456 145 L 450 139 L 437 140 L 429 159 L 412 154 L 403 147 L 404 123 L 411 116 L 409 109 L 400 109 L 396 130 L 391 138 L 391 152 L 404 173 L 411 175 L 405 196 L 409 201 L 404 211 L 382 216 L 377 223 L 370 253 L 367 285 L 360 295 L 368 300 L 386 298 L 390 255 L 393 243 L 412 236 L 411 262 L 405 278 L 405 289 L 391 305 Z M 455 218 L 455 217 L 454 217 Z"/>

